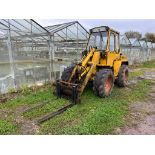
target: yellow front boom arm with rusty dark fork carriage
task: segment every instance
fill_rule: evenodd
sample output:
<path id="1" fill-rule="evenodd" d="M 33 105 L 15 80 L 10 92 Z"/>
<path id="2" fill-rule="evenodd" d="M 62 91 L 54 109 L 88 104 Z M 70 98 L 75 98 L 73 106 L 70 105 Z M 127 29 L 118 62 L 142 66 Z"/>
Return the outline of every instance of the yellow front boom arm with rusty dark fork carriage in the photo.
<path id="1" fill-rule="evenodd" d="M 75 65 L 68 81 L 57 81 L 57 95 L 68 96 L 72 98 L 73 103 L 80 102 L 80 96 L 83 93 L 88 81 L 96 71 L 96 65 L 100 60 L 100 51 L 92 48 L 87 56 L 77 65 Z"/>

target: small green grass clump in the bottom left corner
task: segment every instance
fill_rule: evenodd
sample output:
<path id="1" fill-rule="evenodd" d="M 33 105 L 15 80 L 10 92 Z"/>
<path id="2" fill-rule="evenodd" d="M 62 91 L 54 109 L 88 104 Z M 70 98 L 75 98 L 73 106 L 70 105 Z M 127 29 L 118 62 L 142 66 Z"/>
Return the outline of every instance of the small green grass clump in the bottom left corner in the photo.
<path id="1" fill-rule="evenodd" d="M 8 122 L 6 120 L 0 120 L 0 135 L 12 135 L 16 134 L 17 127 L 16 125 Z"/>

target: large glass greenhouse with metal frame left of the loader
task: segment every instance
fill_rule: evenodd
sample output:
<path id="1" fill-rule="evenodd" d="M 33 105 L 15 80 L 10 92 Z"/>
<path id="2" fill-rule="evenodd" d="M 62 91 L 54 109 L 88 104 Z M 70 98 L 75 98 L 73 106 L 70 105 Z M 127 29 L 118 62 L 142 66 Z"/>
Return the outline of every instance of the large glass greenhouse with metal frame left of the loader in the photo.
<path id="1" fill-rule="evenodd" d="M 59 77 L 61 66 L 79 59 L 87 39 L 77 21 L 44 28 L 31 19 L 1 19 L 0 92 Z"/>

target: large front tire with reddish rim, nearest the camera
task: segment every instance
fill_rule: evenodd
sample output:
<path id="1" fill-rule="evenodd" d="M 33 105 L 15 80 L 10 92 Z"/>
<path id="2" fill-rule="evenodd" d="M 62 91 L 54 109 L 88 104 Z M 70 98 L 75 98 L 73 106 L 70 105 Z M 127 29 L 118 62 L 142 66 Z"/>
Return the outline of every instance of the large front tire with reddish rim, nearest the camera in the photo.
<path id="1" fill-rule="evenodd" d="M 108 79 L 111 79 L 111 86 L 109 91 L 106 91 L 105 85 Z M 114 86 L 114 74 L 111 69 L 102 69 L 96 73 L 96 76 L 93 81 L 93 90 L 95 95 L 99 97 L 107 97 L 111 94 L 111 91 Z"/>

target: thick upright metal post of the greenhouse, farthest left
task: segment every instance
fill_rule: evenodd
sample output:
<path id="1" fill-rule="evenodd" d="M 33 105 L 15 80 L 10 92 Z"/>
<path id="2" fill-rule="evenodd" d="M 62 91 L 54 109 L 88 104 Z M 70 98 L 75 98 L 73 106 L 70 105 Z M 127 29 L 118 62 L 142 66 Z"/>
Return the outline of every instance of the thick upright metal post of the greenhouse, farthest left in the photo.
<path id="1" fill-rule="evenodd" d="M 12 44 L 11 44 L 11 30 L 10 30 L 10 21 L 8 19 L 8 40 L 7 40 L 7 46 L 9 51 L 9 60 L 10 60 L 10 69 L 11 69 L 11 75 L 14 82 L 14 89 L 17 90 L 16 80 L 15 80 L 15 66 L 14 66 L 14 59 L 13 59 L 13 52 L 12 52 Z"/>

